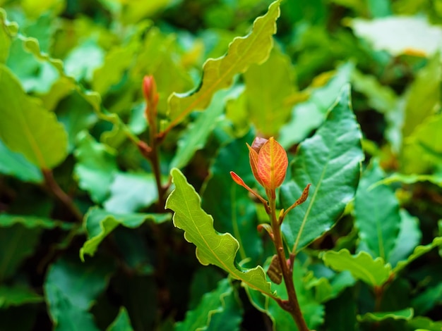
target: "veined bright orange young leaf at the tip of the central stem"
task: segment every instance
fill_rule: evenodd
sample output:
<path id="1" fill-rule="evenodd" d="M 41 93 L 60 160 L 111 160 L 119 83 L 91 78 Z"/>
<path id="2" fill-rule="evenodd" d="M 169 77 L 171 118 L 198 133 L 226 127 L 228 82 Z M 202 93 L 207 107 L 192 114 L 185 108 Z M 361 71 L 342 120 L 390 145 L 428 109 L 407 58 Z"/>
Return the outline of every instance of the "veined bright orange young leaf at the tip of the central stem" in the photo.
<path id="1" fill-rule="evenodd" d="M 289 160 L 282 146 L 270 137 L 258 154 L 258 177 L 265 189 L 276 189 L 284 181 Z"/>

